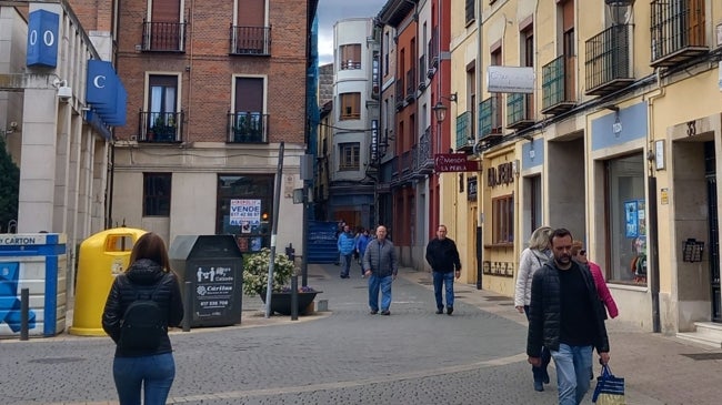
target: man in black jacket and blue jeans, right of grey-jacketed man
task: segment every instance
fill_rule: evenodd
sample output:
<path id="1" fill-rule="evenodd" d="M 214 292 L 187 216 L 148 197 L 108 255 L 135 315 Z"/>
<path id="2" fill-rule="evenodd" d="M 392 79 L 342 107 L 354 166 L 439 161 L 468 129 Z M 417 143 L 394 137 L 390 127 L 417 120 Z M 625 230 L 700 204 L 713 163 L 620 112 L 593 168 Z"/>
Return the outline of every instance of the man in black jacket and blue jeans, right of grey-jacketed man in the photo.
<path id="1" fill-rule="evenodd" d="M 433 276 L 433 295 L 437 298 L 437 314 L 443 314 L 441 286 L 447 290 L 447 314 L 454 312 L 454 277 L 461 276 L 461 261 L 457 244 L 447 237 L 447 225 L 439 225 L 437 237 L 427 246 L 427 262 Z"/>

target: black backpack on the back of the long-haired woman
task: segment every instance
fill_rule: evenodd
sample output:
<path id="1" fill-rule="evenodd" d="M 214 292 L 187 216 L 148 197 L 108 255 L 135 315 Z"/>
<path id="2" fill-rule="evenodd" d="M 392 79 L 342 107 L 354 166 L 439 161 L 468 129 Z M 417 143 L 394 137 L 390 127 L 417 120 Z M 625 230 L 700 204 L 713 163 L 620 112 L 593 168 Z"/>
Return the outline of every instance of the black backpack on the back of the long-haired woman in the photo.
<path id="1" fill-rule="evenodd" d="M 160 305 L 153 301 L 161 282 L 156 284 L 151 293 L 136 290 L 133 301 L 123 313 L 120 323 L 120 341 L 123 350 L 156 350 L 161 338 L 168 333 L 166 316 Z"/>

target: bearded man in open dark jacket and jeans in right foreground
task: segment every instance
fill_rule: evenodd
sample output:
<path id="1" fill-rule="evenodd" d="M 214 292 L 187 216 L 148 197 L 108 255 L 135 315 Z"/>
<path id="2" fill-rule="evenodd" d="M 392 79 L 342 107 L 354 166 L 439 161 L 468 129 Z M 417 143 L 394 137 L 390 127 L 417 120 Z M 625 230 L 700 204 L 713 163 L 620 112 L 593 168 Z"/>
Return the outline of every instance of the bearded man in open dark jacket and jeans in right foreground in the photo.
<path id="1" fill-rule="evenodd" d="M 529 306 L 527 354 L 533 366 L 541 364 L 542 345 L 556 366 L 559 404 L 582 402 L 592 375 L 592 351 L 609 362 L 609 337 L 604 308 L 594 279 L 572 260 L 572 234 L 558 229 L 550 236 L 554 260 L 534 273 Z"/>

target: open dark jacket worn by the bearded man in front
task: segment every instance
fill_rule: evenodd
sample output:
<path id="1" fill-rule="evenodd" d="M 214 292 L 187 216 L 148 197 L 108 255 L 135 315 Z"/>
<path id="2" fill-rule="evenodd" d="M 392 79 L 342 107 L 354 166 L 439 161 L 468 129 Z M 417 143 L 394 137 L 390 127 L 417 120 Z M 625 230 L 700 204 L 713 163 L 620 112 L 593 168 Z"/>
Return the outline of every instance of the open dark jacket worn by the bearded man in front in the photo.
<path id="1" fill-rule="evenodd" d="M 559 270 L 553 260 L 546 262 L 534 272 L 531 284 L 531 304 L 529 305 L 529 335 L 527 337 L 527 354 L 531 357 L 541 356 L 542 345 L 549 350 L 559 350 L 561 330 L 561 301 L 559 272 L 581 272 L 586 286 L 595 327 L 594 347 L 596 353 L 609 352 L 609 337 L 604 326 L 604 307 L 596 295 L 596 286 L 592 274 L 579 263 L 572 261 L 569 270 Z"/>

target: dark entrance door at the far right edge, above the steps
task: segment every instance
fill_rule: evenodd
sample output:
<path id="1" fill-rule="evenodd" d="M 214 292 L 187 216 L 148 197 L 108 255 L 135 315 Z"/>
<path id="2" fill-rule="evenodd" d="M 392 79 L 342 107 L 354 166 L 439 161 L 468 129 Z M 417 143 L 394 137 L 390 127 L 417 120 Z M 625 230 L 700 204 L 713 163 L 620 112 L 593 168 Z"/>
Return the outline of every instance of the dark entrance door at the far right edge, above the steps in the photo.
<path id="1" fill-rule="evenodd" d="M 712 322 L 722 323 L 722 296 L 720 295 L 720 226 L 716 195 L 716 159 L 714 142 L 704 143 L 704 176 L 710 232 L 710 284 L 712 290 Z"/>

